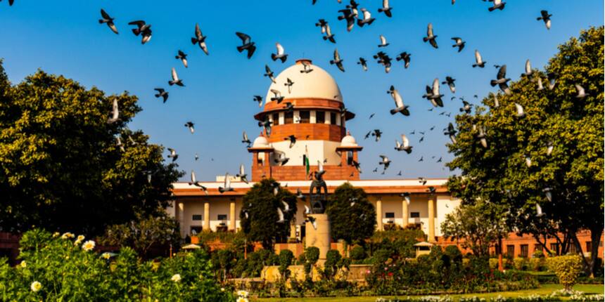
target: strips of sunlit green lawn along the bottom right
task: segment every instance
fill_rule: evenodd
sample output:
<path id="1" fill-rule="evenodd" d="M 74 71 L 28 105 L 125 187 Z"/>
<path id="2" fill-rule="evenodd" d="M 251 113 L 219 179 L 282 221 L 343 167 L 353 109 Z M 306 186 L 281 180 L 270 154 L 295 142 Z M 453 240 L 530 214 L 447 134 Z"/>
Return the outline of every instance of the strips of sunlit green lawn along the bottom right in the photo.
<path id="1" fill-rule="evenodd" d="M 543 284 L 538 289 L 527 289 L 523 291 L 499 291 L 488 294 L 459 294 L 450 295 L 453 298 L 471 297 L 478 296 L 480 298 L 495 298 L 496 296 L 529 296 L 532 294 L 547 295 L 553 291 L 562 289 L 563 287 L 559 284 Z M 586 294 L 603 294 L 603 284 L 578 284 L 573 287 L 577 291 L 584 291 Z M 382 296 L 383 298 L 394 298 L 393 296 Z M 259 302 L 274 302 L 274 301 L 303 301 L 303 302 L 340 302 L 340 301 L 361 301 L 361 302 L 374 302 L 378 296 L 371 297 L 333 297 L 333 298 L 259 298 L 252 299 L 252 301 Z"/>

